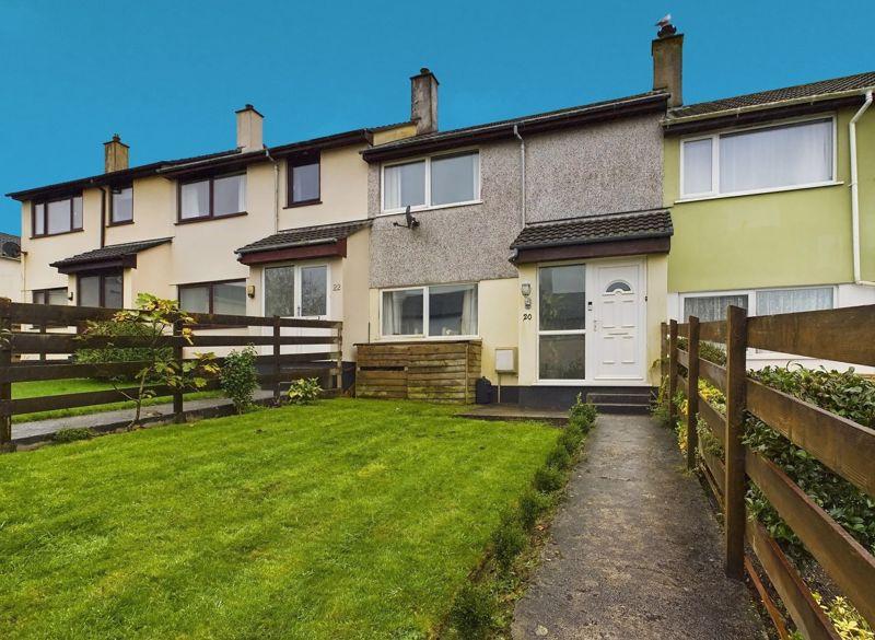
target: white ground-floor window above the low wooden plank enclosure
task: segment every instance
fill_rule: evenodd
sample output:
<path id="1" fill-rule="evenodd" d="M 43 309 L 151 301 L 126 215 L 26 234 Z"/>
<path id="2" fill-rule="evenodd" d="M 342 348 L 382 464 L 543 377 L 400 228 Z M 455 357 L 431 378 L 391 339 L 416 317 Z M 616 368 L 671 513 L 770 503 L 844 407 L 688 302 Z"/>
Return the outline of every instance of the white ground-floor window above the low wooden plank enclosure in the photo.
<path id="1" fill-rule="evenodd" d="M 438 284 L 382 293 L 384 336 L 476 336 L 477 284 Z"/>

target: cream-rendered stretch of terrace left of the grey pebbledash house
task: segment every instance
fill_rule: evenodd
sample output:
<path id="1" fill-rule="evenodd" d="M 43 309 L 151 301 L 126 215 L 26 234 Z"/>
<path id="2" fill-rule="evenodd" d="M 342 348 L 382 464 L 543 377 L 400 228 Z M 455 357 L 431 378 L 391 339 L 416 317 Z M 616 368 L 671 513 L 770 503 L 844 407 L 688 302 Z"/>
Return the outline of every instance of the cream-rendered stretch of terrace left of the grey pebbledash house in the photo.
<path id="1" fill-rule="evenodd" d="M 140 166 L 115 136 L 103 174 L 9 194 L 22 203 L 24 300 L 130 307 L 149 292 L 190 312 L 341 319 L 352 361 L 368 337 L 360 152 L 413 125 L 266 147 L 262 119 L 246 105 L 234 149 Z"/>

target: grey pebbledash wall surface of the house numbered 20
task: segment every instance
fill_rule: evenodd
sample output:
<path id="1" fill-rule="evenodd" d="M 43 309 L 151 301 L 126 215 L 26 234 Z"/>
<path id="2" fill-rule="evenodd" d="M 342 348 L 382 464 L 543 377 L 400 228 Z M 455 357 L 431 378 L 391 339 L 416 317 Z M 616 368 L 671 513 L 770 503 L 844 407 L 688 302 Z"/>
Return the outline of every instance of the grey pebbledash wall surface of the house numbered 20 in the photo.
<path id="1" fill-rule="evenodd" d="M 419 229 L 378 216 L 380 166 L 369 173 L 371 287 L 513 278 L 520 233 L 520 144 L 480 147 L 481 205 L 419 211 Z M 662 206 L 660 116 L 640 116 L 526 138 L 528 222 Z"/>

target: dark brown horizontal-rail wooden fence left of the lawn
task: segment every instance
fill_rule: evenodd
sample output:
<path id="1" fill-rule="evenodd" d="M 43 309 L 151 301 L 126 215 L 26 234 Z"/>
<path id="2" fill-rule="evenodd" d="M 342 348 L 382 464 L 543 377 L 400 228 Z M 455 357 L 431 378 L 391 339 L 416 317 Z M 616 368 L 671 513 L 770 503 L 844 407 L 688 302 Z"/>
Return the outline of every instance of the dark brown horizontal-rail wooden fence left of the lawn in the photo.
<path id="1" fill-rule="evenodd" d="M 119 363 L 77 363 L 62 354 L 71 354 L 78 349 L 100 348 L 137 348 L 137 347 L 168 347 L 174 350 L 174 358 L 183 362 L 185 349 L 194 348 L 197 351 L 208 351 L 211 347 L 269 347 L 270 354 L 258 356 L 257 366 L 261 373 L 259 383 L 271 385 L 273 396 L 280 398 L 280 385 L 301 377 L 334 377 L 336 388 L 341 388 L 341 334 L 342 323 L 332 321 L 312 321 L 237 316 L 218 314 L 187 314 L 195 321 L 187 325 L 195 330 L 191 344 L 182 337 L 186 325 L 174 323 L 173 334 L 161 336 L 158 340 L 148 336 L 92 336 L 83 340 L 75 333 L 70 333 L 70 327 L 81 329 L 89 321 L 109 321 L 117 310 L 23 304 L 8 300 L 0 300 L 0 449 L 8 446 L 12 439 L 12 417 L 20 414 L 47 411 L 103 405 L 137 397 L 137 387 L 119 387 L 118 389 L 96 391 L 51 395 L 33 398 L 12 398 L 12 384 L 27 381 L 69 380 L 75 377 L 113 377 L 132 375 L 140 371 L 143 362 Z M 35 327 L 33 330 L 21 330 L 21 325 Z M 47 330 L 47 327 L 50 329 Z M 66 330 L 65 330 L 66 327 Z M 247 335 L 248 327 L 269 327 L 270 335 Z M 285 327 L 330 329 L 324 336 L 283 336 Z M 217 335 L 217 329 L 247 329 L 247 334 Z M 199 330 L 210 329 L 209 335 Z M 58 331 L 63 333 L 58 333 Z M 317 345 L 324 346 L 317 352 L 282 353 L 287 345 Z M 315 349 L 315 347 L 314 347 Z M 47 359 L 47 354 L 60 359 Z M 25 356 L 25 359 L 21 359 Z M 38 357 L 36 359 L 35 357 Z M 214 362 L 221 364 L 222 358 Z M 268 371 L 269 372 L 265 372 Z M 203 389 L 219 388 L 219 380 L 210 380 Z M 174 415 L 177 421 L 184 418 L 184 392 L 168 386 L 153 385 L 145 387 L 151 394 L 158 396 L 172 396 Z"/>

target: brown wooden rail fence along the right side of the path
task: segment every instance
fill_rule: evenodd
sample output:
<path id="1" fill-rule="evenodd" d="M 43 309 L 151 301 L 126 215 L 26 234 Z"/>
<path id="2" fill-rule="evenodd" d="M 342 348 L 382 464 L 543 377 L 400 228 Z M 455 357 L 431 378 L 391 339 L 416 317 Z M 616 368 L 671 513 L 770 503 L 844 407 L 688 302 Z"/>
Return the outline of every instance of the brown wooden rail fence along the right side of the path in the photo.
<path id="1" fill-rule="evenodd" d="M 767 349 L 851 364 L 875 365 L 875 305 L 747 317 L 728 307 L 725 322 L 663 325 L 663 375 L 668 397 L 680 392 L 688 399 L 685 429 L 687 463 L 696 451 L 725 514 L 726 573 L 739 579 L 747 570 L 763 596 L 782 636 L 783 620 L 749 559 L 745 540 L 759 560 L 786 610 L 806 639 L 838 639 L 827 616 L 774 539 L 746 512 L 747 482 L 766 496 L 830 579 L 863 617 L 875 626 L 875 558 L 812 500 L 781 468 L 743 443 L 744 417 L 749 412 L 804 449 L 839 476 L 875 497 L 875 431 L 775 391 L 747 376 L 748 348 Z M 678 348 L 688 338 L 688 349 Z M 723 342 L 726 365 L 700 356 L 701 341 Z M 687 369 L 685 377 L 679 365 Z M 699 394 L 699 380 L 723 392 L 725 414 Z M 670 405 L 672 418 L 677 408 Z M 697 417 L 723 445 L 724 456 L 712 455 L 698 443 Z"/>

